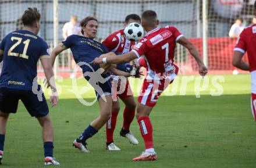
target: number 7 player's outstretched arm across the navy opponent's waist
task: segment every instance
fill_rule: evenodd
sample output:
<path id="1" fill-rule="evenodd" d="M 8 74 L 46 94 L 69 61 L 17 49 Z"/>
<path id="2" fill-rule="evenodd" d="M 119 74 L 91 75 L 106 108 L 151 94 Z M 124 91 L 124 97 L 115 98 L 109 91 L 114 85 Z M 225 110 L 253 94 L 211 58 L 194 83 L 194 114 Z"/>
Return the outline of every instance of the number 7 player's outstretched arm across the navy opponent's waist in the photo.
<path id="1" fill-rule="evenodd" d="M 130 62 L 133 59 L 136 59 L 137 55 L 133 51 L 125 53 L 123 55 L 116 55 L 113 52 L 102 54 L 99 58 L 94 59 L 95 64 L 99 63 L 125 63 Z"/>

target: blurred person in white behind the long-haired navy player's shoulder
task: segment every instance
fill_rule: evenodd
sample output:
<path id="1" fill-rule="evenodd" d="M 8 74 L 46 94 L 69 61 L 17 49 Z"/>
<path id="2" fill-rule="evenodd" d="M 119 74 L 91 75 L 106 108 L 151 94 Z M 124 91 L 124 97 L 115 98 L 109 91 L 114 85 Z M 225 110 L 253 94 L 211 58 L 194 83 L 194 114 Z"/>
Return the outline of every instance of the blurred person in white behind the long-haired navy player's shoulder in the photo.
<path id="1" fill-rule="evenodd" d="M 79 23 L 77 22 L 77 16 L 72 15 L 70 17 L 69 22 L 65 23 L 63 28 L 62 28 L 62 37 L 64 40 L 67 38 L 67 36 L 72 35 L 72 34 L 81 34 L 81 27 L 79 26 Z M 67 55 L 70 57 L 70 63 L 71 63 L 71 69 L 72 73 L 70 74 L 70 78 L 74 78 L 75 74 L 73 72 L 74 67 L 76 66 L 76 63 L 74 62 L 72 53 L 70 50 L 68 51 Z"/>

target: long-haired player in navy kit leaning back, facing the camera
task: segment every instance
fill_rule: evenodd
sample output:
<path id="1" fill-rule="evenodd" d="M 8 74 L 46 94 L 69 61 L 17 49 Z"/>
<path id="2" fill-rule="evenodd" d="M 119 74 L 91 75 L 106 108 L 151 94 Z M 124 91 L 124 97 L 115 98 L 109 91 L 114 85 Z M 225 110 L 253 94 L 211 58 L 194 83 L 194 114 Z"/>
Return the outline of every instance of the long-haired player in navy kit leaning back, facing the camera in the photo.
<path id="1" fill-rule="evenodd" d="M 80 22 L 81 33 L 83 35 L 70 35 L 66 40 L 62 41 L 51 52 L 51 63 L 54 65 L 56 56 L 67 48 L 73 53 L 74 61 L 83 70 L 84 78 L 94 87 L 99 103 L 100 114 L 93 120 L 84 130 L 79 138 L 73 141 L 73 146 L 82 152 L 89 152 L 86 148 L 86 140 L 98 133 L 98 130 L 104 126 L 106 121 L 111 117 L 112 94 L 110 74 L 101 74 L 99 65 L 90 64 L 103 53 L 107 53 L 108 49 L 101 43 L 93 39 L 97 35 L 98 21 L 94 17 L 86 17 Z"/>

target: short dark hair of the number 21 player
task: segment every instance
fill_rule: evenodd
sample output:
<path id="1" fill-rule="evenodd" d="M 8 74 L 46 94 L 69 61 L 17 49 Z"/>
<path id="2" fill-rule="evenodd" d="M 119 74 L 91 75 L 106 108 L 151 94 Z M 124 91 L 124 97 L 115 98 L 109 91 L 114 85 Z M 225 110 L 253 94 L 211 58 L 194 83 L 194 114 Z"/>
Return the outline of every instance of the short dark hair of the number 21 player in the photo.
<path id="1" fill-rule="evenodd" d="M 40 21 L 41 15 L 37 8 L 27 8 L 24 14 L 22 15 L 22 23 L 25 26 L 32 26 L 36 21 Z"/>

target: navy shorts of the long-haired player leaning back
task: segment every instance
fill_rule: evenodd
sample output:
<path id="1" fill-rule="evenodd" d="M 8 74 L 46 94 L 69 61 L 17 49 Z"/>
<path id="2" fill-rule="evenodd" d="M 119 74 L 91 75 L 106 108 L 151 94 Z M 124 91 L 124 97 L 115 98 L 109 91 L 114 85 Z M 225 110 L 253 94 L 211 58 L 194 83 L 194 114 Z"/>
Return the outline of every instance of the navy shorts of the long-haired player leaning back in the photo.
<path id="1" fill-rule="evenodd" d="M 89 64 L 82 65 L 81 69 L 83 69 L 83 76 L 86 78 L 88 83 L 95 90 L 95 94 L 97 99 L 99 99 L 102 95 L 111 95 L 111 74 L 108 72 L 106 74 L 101 74 L 99 70 L 99 65 Z"/>

